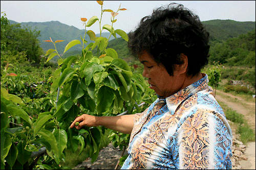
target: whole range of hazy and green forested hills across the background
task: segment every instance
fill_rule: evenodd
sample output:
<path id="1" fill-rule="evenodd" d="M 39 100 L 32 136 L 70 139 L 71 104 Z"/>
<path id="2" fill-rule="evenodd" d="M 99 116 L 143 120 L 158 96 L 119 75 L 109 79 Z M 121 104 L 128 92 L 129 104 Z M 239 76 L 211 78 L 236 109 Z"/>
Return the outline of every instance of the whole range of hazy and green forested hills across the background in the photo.
<path id="1" fill-rule="evenodd" d="M 81 40 L 84 30 L 79 30 L 73 26 L 68 26 L 59 21 L 50 22 L 22 22 L 17 23 L 10 21 L 10 33 L 14 33 L 17 27 L 35 29 L 37 39 L 40 47 L 46 52 L 50 48 L 54 48 L 52 43 L 44 42 L 49 37 L 55 40 L 65 40 L 57 43 L 56 47 L 61 55 L 65 46 L 72 40 Z M 209 20 L 202 21 L 206 29 L 210 33 L 210 61 L 219 61 L 221 64 L 228 63 L 229 65 L 255 65 L 255 22 L 239 22 L 234 20 Z M 38 30 L 36 32 L 36 30 Z M 9 34 L 9 33 L 8 33 Z M 96 36 L 99 36 L 96 34 Z M 104 37 L 108 37 L 109 33 L 103 33 Z M 127 42 L 122 38 L 115 39 L 113 36 L 109 42 L 108 47 L 117 51 L 118 57 L 127 62 L 133 61 L 133 58 L 127 48 Z M 10 37 L 10 41 L 15 38 Z M 87 44 L 92 42 L 88 35 L 86 35 Z M 18 43 L 18 42 L 16 42 Z M 95 52 L 93 52 L 95 54 Z M 63 56 L 67 58 L 71 55 L 81 55 L 81 46 L 75 45 L 68 53 Z"/>

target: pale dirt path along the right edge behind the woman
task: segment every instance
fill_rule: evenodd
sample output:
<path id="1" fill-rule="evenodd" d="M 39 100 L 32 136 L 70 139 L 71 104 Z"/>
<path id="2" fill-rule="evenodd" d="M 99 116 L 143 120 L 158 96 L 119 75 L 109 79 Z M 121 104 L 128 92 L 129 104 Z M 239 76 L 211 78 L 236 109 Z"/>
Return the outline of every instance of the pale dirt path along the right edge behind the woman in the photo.
<path id="1" fill-rule="evenodd" d="M 217 90 L 215 98 L 217 101 L 225 103 L 232 110 L 244 115 L 249 126 L 254 129 L 255 132 L 255 103 L 245 102 L 238 96 L 220 90 Z M 235 102 L 233 100 L 235 100 Z M 248 159 L 239 161 L 242 169 L 255 169 L 255 142 L 247 143 L 245 155 Z"/>

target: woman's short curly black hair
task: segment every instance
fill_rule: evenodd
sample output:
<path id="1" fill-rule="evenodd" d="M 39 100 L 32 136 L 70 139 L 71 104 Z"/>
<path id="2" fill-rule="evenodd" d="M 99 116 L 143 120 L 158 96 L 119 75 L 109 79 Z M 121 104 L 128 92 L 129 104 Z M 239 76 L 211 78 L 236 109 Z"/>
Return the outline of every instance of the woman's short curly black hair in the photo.
<path id="1" fill-rule="evenodd" d="M 187 75 L 195 76 L 208 63 L 208 41 L 209 33 L 199 17 L 183 5 L 172 3 L 143 17 L 136 30 L 129 33 L 128 47 L 135 57 L 149 52 L 171 76 L 174 64 L 183 63 L 183 53 L 188 58 Z"/>

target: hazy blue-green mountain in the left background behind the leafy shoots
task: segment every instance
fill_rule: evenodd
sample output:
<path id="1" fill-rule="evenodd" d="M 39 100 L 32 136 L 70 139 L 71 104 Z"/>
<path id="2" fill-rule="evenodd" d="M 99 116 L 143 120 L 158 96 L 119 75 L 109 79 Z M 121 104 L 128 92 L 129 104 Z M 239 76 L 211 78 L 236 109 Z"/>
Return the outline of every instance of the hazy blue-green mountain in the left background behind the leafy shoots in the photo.
<path id="1" fill-rule="evenodd" d="M 18 23 L 13 20 L 9 20 L 10 24 Z M 63 42 L 56 43 L 56 48 L 59 54 L 62 54 L 65 46 L 72 40 L 80 40 L 82 44 L 81 37 L 84 36 L 84 30 L 79 30 L 78 28 L 74 26 L 68 26 L 66 24 L 63 24 L 59 21 L 49 21 L 49 22 L 21 22 L 20 26 L 28 26 L 31 27 L 31 29 L 35 29 L 40 31 L 40 36 L 38 37 L 38 40 L 40 41 L 40 47 L 46 52 L 47 50 L 53 48 L 55 49 L 53 43 L 45 42 L 44 40 L 49 40 L 50 37 L 53 41 L 56 40 L 65 40 Z M 110 33 L 101 33 L 103 37 L 109 38 Z M 80 37 L 81 36 L 81 37 Z M 96 34 L 96 37 L 99 37 L 99 34 Z M 120 37 L 117 34 L 117 37 Z M 113 36 L 111 36 L 110 40 L 114 39 Z M 87 44 L 93 42 L 90 40 L 90 37 L 86 34 L 86 41 L 88 41 Z M 71 51 L 81 51 L 82 47 L 81 45 L 75 45 L 68 52 Z"/>

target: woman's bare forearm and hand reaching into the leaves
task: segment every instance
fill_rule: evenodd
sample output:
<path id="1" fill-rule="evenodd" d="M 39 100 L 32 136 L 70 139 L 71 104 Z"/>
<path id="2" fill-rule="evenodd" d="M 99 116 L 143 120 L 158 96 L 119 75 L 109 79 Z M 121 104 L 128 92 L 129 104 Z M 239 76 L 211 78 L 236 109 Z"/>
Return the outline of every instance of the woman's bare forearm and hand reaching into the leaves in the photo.
<path id="1" fill-rule="evenodd" d="M 121 116 L 92 116 L 82 114 L 76 117 L 70 128 L 76 127 L 76 129 L 81 129 L 83 126 L 104 126 L 121 133 L 131 134 L 134 126 L 133 117 L 134 114 Z M 78 126 L 75 125 L 76 122 L 79 122 Z"/>

